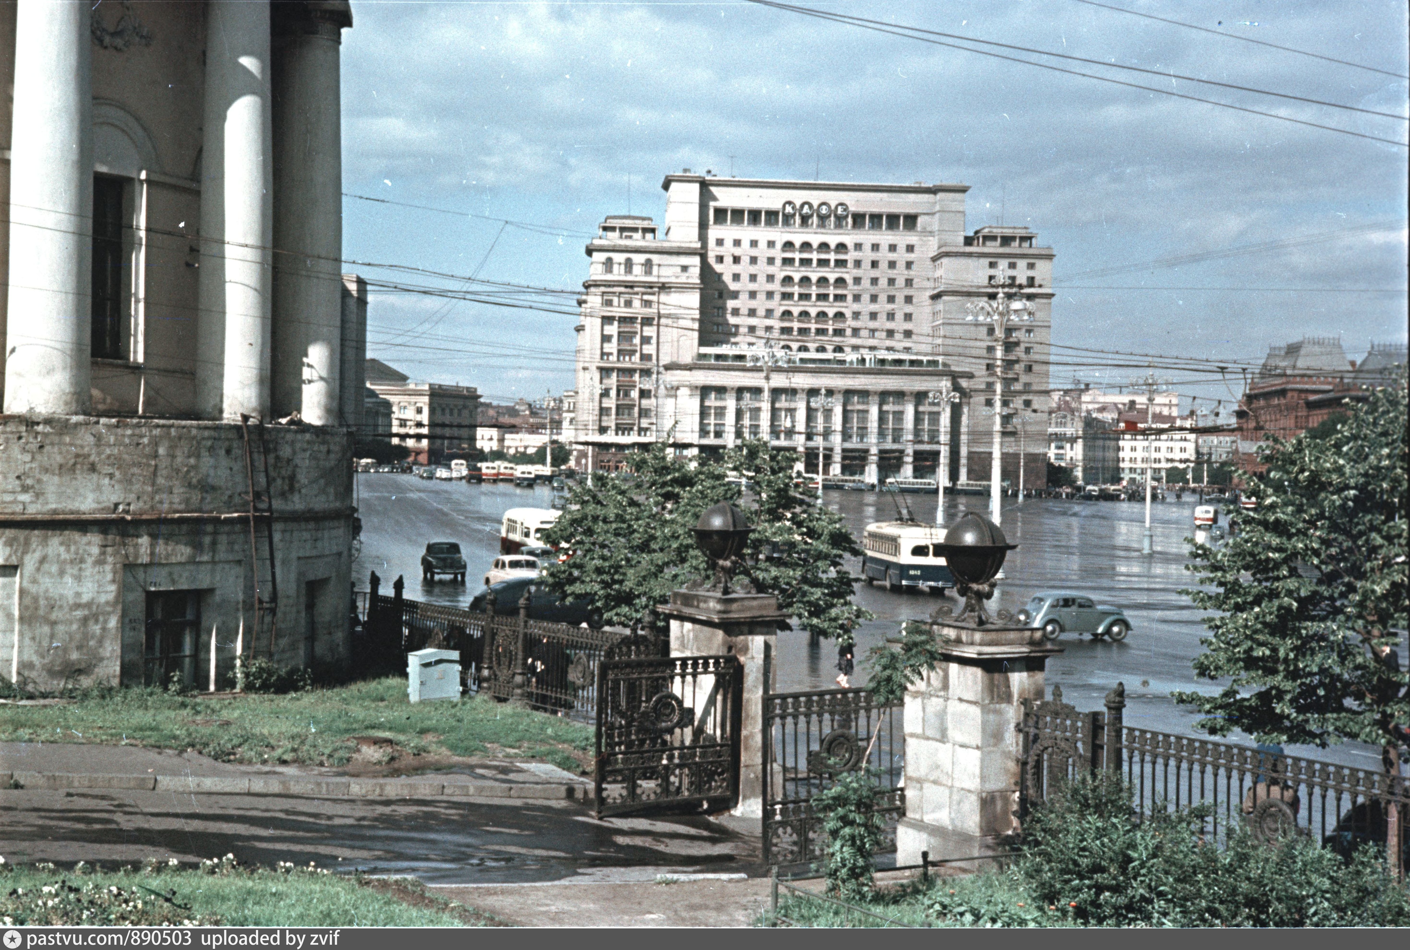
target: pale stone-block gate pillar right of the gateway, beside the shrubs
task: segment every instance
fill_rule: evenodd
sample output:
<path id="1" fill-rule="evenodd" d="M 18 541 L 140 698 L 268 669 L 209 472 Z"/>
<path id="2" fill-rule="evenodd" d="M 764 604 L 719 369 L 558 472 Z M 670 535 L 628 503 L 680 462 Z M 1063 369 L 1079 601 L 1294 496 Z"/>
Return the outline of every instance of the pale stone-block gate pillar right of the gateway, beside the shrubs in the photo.
<path id="1" fill-rule="evenodd" d="M 932 622 L 943 658 L 905 693 L 897 864 L 995 854 L 1018 830 L 1022 701 L 1043 699 L 1042 630 Z"/>

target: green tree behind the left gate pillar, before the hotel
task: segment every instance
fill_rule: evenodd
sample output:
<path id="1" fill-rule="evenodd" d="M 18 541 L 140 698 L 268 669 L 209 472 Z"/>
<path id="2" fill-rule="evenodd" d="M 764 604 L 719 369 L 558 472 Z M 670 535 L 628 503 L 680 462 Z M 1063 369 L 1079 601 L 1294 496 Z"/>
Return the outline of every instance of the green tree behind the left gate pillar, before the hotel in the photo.
<path id="1" fill-rule="evenodd" d="M 850 643 L 870 613 L 852 603 L 857 578 L 843 558 L 860 555 L 846 523 L 802 495 L 794 479 L 798 455 L 754 441 L 725 452 L 674 455 L 664 443 L 633 452 L 626 471 L 575 485 L 548 533 L 574 551 L 550 567 L 547 584 L 568 598 L 587 598 L 615 624 L 639 623 L 671 591 L 709 576 L 691 529 L 718 502 L 739 505 L 754 533 L 746 558 L 754 585 L 778 596 L 780 609 L 808 631 Z M 729 472 L 752 483 L 742 498 Z"/>

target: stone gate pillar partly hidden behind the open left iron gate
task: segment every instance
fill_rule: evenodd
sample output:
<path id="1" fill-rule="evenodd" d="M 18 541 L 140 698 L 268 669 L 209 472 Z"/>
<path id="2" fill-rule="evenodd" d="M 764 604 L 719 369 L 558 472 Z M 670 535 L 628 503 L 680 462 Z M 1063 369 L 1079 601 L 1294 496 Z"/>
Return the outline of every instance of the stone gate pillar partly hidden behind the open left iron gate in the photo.
<path id="1" fill-rule="evenodd" d="M 787 615 L 771 593 L 719 593 L 673 591 L 671 602 L 657 607 L 671 623 L 671 655 L 733 654 L 743 665 L 744 688 L 739 737 L 740 818 L 764 813 L 764 693 L 774 691 L 778 626 Z"/>

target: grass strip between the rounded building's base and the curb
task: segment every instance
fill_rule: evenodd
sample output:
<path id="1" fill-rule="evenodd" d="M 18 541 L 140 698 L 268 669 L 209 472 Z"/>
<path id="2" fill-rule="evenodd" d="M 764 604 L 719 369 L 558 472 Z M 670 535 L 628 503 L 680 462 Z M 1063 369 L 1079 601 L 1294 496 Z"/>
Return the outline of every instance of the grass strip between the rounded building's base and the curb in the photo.
<path id="1" fill-rule="evenodd" d="M 391 739 L 407 753 L 541 758 L 584 771 L 589 726 L 488 696 L 410 703 L 388 677 L 283 695 L 203 699 L 154 688 L 93 688 L 76 702 L 7 706 L 0 740 L 193 750 L 228 763 L 345 765 L 354 737 Z"/>

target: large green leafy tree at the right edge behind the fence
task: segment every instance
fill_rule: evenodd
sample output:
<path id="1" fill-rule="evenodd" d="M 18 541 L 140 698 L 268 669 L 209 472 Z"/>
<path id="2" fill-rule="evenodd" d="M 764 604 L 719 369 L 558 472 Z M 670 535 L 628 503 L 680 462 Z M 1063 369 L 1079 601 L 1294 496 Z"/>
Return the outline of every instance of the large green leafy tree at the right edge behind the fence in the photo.
<path id="1" fill-rule="evenodd" d="M 1200 729 L 1372 743 L 1400 775 L 1410 740 L 1410 674 L 1396 653 L 1410 616 L 1406 395 L 1402 375 L 1328 436 L 1265 443 L 1268 468 L 1248 486 L 1258 506 L 1220 548 L 1193 547 L 1189 569 L 1204 586 L 1183 593 L 1213 612 L 1194 671 L 1228 681 L 1214 695 L 1175 693 L 1204 713 Z M 1390 863 L 1399 858 L 1392 847 Z"/>

